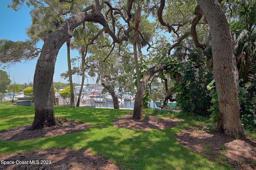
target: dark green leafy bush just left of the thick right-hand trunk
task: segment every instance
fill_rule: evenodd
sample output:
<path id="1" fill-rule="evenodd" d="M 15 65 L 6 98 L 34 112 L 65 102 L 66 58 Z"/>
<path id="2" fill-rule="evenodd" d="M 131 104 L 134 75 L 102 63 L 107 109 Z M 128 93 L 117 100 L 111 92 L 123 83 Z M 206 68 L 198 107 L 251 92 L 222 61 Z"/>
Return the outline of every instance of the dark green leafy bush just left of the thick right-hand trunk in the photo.
<path id="1" fill-rule="evenodd" d="M 177 103 L 182 111 L 193 112 L 201 116 L 209 114 L 211 99 L 206 86 L 212 81 L 213 73 L 206 65 L 187 62 L 183 70 L 180 85 L 177 88 Z"/>

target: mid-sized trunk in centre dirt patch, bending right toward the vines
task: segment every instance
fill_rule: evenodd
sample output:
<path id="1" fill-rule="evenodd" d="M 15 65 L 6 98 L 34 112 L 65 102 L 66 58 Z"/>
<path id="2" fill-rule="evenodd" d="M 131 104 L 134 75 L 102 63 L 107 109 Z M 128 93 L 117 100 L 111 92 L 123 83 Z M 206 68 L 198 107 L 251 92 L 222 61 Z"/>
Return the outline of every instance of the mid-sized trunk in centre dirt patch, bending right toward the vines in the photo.
<path id="1" fill-rule="evenodd" d="M 145 76 L 143 77 L 143 80 L 140 84 L 140 87 L 138 88 L 136 95 L 135 95 L 135 101 L 134 101 L 134 109 L 133 109 L 133 119 L 143 119 L 143 98 L 146 92 L 146 88 L 148 86 L 148 81 L 156 72 L 160 72 L 162 70 L 166 70 L 167 66 L 165 65 L 157 65 L 154 67 L 149 68 L 146 71 Z"/>

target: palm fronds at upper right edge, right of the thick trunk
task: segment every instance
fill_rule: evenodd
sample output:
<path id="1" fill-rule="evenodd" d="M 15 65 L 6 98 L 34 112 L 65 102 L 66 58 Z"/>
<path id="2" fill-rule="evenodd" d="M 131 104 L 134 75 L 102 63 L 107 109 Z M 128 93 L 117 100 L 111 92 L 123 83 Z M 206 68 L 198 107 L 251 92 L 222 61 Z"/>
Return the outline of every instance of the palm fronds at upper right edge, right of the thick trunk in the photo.
<path id="1" fill-rule="evenodd" d="M 248 80 L 256 56 L 256 4 L 253 0 L 237 2 L 239 22 L 234 22 L 236 60 L 239 78 Z"/>

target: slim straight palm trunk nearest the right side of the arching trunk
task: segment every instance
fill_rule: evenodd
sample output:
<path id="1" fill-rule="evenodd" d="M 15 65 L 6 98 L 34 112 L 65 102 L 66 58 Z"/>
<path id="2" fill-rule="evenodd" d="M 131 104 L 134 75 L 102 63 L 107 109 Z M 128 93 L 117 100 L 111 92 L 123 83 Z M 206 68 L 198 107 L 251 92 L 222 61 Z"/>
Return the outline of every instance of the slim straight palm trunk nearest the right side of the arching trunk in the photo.
<path id="1" fill-rule="evenodd" d="M 71 70 L 71 60 L 70 60 L 70 38 L 66 40 L 66 44 L 67 44 L 67 56 L 68 56 L 68 78 L 69 78 L 69 84 L 70 84 L 70 108 L 75 108 L 74 87 L 73 87 L 73 81 L 72 81 L 72 70 Z"/>

